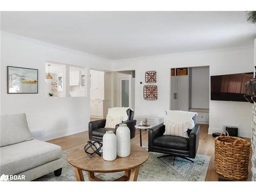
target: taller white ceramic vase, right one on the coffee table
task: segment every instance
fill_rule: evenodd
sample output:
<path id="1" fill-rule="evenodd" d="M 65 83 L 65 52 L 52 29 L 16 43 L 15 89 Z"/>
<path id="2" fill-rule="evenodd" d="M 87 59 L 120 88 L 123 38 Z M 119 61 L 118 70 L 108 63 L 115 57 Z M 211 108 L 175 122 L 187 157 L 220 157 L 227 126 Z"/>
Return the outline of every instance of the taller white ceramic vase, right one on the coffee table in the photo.
<path id="1" fill-rule="evenodd" d="M 125 123 L 121 123 L 116 130 L 117 156 L 127 157 L 131 153 L 130 129 Z"/>

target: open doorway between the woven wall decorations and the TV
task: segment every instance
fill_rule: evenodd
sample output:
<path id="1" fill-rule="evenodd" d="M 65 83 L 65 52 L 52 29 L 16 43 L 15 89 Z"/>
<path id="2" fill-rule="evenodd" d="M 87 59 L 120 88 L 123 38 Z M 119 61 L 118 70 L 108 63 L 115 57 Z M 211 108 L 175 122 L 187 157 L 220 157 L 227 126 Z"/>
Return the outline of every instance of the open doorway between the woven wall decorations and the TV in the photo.
<path id="1" fill-rule="evenodd" d="M 197 112 L 197 123 L 209 123 L 209 66 L 172 68 L 169 85 L 170 110 Z"/>

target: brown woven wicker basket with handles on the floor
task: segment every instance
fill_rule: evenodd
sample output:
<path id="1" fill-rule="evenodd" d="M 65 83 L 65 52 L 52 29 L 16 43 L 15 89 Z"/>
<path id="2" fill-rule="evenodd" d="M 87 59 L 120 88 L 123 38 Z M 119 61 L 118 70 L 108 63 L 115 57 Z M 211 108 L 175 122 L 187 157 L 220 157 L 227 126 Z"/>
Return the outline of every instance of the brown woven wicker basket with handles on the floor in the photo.
<path id="1" fill-rule="evenodd" d="M 248 176 L 250 143 L 245 139 L 227 136 L 215 138 L 215 169 L 226 178 L 243 180 Z"/>

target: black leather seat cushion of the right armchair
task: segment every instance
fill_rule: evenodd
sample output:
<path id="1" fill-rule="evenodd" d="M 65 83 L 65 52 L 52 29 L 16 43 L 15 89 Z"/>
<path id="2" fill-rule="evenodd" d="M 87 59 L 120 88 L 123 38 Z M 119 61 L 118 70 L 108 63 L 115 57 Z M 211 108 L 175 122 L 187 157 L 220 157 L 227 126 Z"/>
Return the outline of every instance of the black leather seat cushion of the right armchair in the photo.
<path id="1" fill-rule="evenodd" d="M 154 139 L 153 145 L 173 148 L 175 150 L 184 150 L 188 151 L 189 138 L 172 136 L 172 135 L 161 135 Z"/>

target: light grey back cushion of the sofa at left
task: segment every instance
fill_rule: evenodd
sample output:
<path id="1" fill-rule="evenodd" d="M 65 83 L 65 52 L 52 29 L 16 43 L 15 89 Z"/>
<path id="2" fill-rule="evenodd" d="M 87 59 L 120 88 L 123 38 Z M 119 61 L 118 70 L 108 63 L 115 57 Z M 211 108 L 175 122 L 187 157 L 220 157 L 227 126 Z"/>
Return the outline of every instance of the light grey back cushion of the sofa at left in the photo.
<path id="1" fill-rule="evenodd" d="M 33 139 L 26 114 L 1 115 L 0 135 L 1 147 Z"/>

